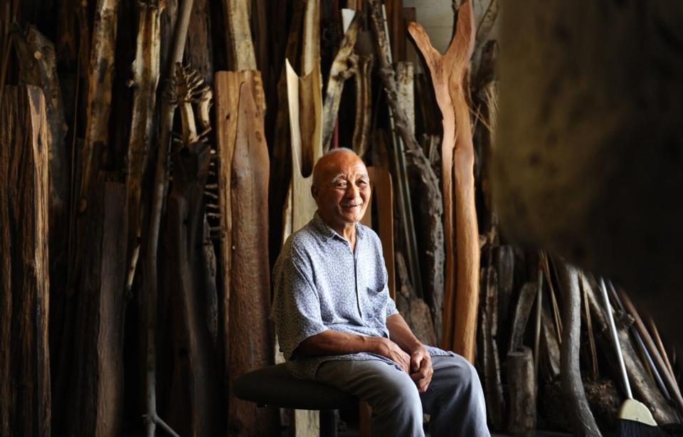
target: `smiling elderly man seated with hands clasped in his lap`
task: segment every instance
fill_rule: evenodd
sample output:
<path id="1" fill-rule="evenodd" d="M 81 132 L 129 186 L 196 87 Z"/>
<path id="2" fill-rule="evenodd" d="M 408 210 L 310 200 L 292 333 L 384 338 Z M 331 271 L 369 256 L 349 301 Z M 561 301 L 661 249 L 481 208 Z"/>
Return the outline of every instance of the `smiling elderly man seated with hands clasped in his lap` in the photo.
<path id="1" fill-rule="evenodd" d="M 374 436 L 423 436 L 423 412 L 432 436 L 489 436 L 474 367 L 420 343 L 388 295 L 379 238 L 359 223 L 370 203 L 361 159 L 326 154 L 311 193 L 318 210 L 273 271 L 272 319 L 290 371 L 368 401 Z"/>

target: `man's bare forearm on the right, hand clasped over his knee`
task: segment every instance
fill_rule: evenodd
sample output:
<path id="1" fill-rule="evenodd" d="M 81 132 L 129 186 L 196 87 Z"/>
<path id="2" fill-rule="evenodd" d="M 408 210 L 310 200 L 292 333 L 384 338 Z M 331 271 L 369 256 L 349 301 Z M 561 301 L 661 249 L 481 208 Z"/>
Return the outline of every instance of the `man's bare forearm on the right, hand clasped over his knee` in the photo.
<path id="1" fill-rule="evenodd" d="M 413 335 L 406 320 L 403 320 L 403 317 L 398 313 L 386 317 L 386 327 L 393 342 L 396 342 L 401 349 L 410 354 L 411 365 L 408 374 L 418 385 L 418 390 L 420 392 L 427 391 L 434 370 L 432 369 L 432 359 L 424 344 L 420 343 L 420 340 Z"/>

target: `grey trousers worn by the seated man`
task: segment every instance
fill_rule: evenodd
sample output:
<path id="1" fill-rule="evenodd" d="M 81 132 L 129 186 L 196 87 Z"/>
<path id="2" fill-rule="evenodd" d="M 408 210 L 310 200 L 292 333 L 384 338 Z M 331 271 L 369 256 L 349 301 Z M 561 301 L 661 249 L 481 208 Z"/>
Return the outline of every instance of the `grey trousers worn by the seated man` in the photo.
<path id="1" fill-rule="evenodd" d="M 406 372 L 379 360 L 333 360 L 320 365 L 317 380 L 354 394 L 372 407 L 372 435 L 424 436 L 423 412 L 433 437 L 490 436 L 482 384 L 460 357 L 432 357 L 434 374 L 419 393 Z"/>

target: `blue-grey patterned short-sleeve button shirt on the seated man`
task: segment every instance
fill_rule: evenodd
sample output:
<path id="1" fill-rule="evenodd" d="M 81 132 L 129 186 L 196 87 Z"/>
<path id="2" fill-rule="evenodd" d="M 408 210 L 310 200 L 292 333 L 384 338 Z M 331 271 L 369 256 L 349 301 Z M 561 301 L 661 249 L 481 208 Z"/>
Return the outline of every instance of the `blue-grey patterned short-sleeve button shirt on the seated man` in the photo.
<path id="1" fill-rule="evenodd" d="M 315 379 L 320 364 L 330 359 L 379 359 L 369 352 L 307 356 L 299 344 L 326 330 L 389 337 L 386 318 L 398 312 L 389 297 L 381 242 L 371 228 L 356 223 L 356 249 L 317 213 L 287 238 L 273 269 L 275 296 L 271 318 L 295 376 Z M 446 355 L 427 346 L 431 355 Z M 400 369 L 400 367 L 398 367 Z"/>

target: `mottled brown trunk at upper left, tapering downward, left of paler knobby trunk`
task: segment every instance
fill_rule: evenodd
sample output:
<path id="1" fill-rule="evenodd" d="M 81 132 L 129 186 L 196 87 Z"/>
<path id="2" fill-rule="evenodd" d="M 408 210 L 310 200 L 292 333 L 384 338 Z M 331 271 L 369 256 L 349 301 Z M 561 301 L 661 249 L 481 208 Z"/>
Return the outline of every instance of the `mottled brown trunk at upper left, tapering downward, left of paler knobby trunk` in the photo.
<path id="1" fill-rule="evenodd" d="M 119 0 L 97 0 L 92 48 L 88 64 L 88 122 L 83 141 L 83 174 L 80 179 L 78 209 L 87 207 L 85 197 L 100 167 L 100 158 L 109 144 L 109 116 L 116 53 Z"/>

